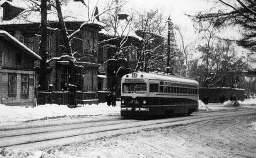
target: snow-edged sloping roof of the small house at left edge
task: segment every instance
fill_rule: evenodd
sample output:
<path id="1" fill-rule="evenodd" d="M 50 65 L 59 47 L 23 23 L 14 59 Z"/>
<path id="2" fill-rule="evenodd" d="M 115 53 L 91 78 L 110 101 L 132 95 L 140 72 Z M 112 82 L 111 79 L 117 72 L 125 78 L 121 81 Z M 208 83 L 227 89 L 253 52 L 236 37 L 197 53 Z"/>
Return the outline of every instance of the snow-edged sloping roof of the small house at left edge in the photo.
<path id="1" fill-rule="evenodd" d="M 23 50 L 27 55 L 33 57 L 37 60 L 42 60 L 42 58 L 37 55 L 34 51 L 30 50 L 27 46 L 25 46 L 23 43 L 18 41 L 15 37 L 7 33 L 6 31 L 0 30 L 0 37 L 4 38 L 5 40 L 13 43 L 15 46 L 19 47 L 21 50 Z"/>

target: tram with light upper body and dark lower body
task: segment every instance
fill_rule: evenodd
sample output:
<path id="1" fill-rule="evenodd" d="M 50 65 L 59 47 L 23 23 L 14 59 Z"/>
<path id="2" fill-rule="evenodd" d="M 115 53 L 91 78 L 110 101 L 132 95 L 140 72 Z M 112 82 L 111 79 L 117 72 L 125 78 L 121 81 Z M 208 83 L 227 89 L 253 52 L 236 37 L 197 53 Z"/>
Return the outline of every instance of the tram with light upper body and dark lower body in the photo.
<path id="1" fill-rule="evenodd" d="M 198 111 L 199 83 L 153 73 L 130 73 L 121 80 L 121 116 L 169 116 Z"/>

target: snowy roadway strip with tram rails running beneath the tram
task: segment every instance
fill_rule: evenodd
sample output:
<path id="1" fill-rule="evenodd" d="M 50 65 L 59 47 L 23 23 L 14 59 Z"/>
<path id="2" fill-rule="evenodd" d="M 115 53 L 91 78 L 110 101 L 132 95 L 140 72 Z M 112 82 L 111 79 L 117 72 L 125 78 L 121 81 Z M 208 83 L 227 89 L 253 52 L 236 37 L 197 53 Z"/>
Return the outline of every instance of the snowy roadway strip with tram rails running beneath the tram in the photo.
<path id="1" fill-rule="evenodd" d="M 70 143 L 88 142 L 101 138 L 138 133 L 142 130 L 155 130 L 184 125 L 203 126 L 213 121 L 227 118 L 256 115 L 255 109 L 233 109 L 228 111 L 194 113 L 192 116 L 173 117 L 155 120 L 127 120 L 120 116 L 106 116 L 100 119 L 81 118 L 74 121 L 57 120 L 47 124 L 11 125 L 0 129 L 0 150 L 7 147 L 16 150 L 37 150 Z M 191 127 L 191 128 L 192 128 Z M 186 129 L 187 130 L 187 129 Z"/>

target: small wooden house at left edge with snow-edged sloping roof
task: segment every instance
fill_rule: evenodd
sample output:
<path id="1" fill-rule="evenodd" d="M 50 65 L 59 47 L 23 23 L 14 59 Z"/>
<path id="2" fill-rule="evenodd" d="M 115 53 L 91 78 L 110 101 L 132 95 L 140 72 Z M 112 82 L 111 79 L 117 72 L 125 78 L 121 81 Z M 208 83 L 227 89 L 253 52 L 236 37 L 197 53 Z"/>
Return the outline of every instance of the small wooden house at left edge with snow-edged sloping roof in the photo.
<path id="1" fill-rule="evenodd" d="M 41 60 L 41 57 L 6 31 L 0 31 L 2 104 L 34 106 L 35 60 Z"/>

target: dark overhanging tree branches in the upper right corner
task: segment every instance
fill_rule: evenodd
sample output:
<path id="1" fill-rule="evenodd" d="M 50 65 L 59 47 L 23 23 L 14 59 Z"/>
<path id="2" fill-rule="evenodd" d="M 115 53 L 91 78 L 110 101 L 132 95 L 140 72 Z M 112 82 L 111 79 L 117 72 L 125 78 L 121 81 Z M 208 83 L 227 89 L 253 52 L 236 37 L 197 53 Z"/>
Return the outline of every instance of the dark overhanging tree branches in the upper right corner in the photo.
<path id="1" fill-rule="evenodd" d="M 193 17 L 193 20 L 197 23 L 210 22 L 214 27 L 218 28 L 239 27 L 243 38 L 238 40 L 237 43 L 246 48 L 252 48 L 251 56 L 254 56 L 256 2 L 254 0 L 214 0 L 214 2 L 219 4 L 220 7 L 206 12 L 199 12 L 195 16 L 189 16 Z"/>

